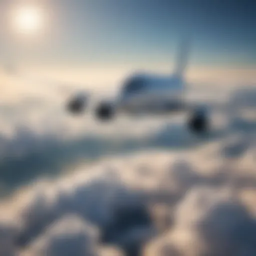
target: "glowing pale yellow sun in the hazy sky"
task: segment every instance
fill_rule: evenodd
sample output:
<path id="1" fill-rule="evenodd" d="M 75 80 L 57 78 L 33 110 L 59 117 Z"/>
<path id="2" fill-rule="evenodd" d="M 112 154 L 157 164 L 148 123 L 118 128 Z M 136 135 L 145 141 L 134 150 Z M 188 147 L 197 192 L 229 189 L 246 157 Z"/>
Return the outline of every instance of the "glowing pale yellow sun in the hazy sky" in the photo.
<path id="1" fill-rule="evenodd" d="M 12 17 L 13 28 L 22 34 L 34 34 L 43 27 L 42 10 L 36 6 L 19 6 Z"/>

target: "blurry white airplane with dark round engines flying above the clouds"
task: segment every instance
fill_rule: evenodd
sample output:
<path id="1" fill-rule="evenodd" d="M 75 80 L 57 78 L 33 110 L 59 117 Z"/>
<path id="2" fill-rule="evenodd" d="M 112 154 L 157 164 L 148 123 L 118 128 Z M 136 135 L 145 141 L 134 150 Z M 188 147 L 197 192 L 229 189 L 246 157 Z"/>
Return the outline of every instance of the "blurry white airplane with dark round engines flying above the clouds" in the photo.
<path id="1" fill-rule="evenodd" d="M 208 113 L 205 107 L 187 102 L 185 93 L 187 83 L 184 72 L 188 59 L 188 41 L 179 47 L 176 67 L 170 75 L 135 73 L 124 79 L 122 87 L 114 100 L 100 102 L 95 115 L 98 119 L 109 121 L 117 113 L 177 113 L 189 111 L 187 121 L 189 130 L 205 132 L 209 128 Z"/>

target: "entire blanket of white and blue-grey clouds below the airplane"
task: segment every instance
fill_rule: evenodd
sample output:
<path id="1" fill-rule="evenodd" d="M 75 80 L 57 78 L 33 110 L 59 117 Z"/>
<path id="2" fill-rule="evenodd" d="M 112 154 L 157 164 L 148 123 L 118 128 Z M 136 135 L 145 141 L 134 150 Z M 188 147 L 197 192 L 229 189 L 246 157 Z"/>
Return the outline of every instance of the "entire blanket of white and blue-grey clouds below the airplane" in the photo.
<path id="1" fill-rule="evenodd" d="M 89 115 L 70 121 L 56 105 L 31 122 L 27 104 L 18 124 L 5 113 L 11 129 L 1 133 L 2 190 L 34 181 L 1 205 L 1 255 L 256 253 L 255 197 L 244 196 L 256 189 L 252 128 L 229 141 L 233 124 L 203 138 L 165 117 L 99 126 Z"/>

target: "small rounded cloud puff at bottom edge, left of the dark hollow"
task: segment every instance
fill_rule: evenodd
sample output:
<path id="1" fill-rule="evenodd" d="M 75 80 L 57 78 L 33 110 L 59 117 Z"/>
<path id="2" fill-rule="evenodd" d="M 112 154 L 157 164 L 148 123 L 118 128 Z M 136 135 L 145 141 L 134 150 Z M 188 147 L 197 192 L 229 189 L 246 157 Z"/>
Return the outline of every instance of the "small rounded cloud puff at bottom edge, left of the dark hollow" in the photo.
<path id="1" fill-rule="evenodd" d="M 31 245 L 34 255 L 96 255 L 96 228 L 76 215 L 66 215 L 49 226 Z"/>

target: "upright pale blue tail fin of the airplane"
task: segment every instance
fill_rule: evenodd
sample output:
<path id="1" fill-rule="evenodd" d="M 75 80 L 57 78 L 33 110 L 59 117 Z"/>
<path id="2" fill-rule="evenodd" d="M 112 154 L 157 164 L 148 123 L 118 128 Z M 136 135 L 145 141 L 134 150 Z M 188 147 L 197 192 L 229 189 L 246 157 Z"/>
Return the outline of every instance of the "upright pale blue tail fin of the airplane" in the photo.
<path id="1" fill-rule="evenodd" d="M 179 43 L 179 48 L 177 52 L 177 59 L 176 59 L 176 66 L 174 72 L 177 76 L 182 77 L 184 75 L 187 61 L 188 61 L 188 54 L 190 49 L 190 43 L 188 39 L 183 39 Z"/>

